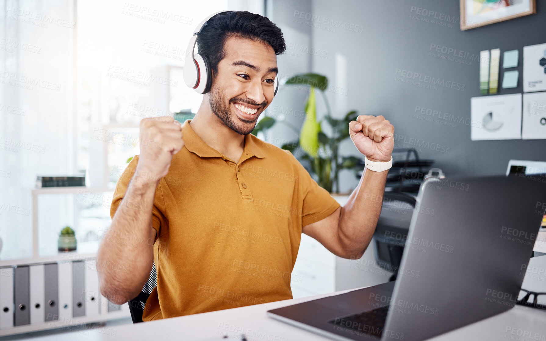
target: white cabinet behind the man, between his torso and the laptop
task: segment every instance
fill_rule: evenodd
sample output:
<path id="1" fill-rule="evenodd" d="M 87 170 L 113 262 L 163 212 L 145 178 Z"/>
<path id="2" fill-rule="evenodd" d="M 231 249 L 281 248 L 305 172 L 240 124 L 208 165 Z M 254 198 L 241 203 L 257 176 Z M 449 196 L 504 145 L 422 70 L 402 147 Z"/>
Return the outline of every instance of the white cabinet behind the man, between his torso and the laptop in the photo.
<path id="1" fill-rule="evenodd" d="M 343 205 L 348 197 L 334 198 Z M 372 240 L 360 259 L 348 260 L 335 256 L 317 240 L 302 234 L 292 271 L 292 295 L 307 297 L 387 282 L 392 273 L 377 265 L 374 252 Z"/>

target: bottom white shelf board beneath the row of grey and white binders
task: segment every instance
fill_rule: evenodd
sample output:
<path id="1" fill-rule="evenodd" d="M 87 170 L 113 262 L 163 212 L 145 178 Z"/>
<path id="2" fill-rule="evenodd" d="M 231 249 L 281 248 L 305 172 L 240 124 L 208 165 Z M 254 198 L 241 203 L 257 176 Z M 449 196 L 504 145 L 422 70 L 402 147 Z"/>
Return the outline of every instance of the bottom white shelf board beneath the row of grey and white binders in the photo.
<path id="1" fill-rule="evenodd" d="M 127 303 L 125 305 L 127 305 Z M 81 316 L 80 318 L 73 318 L 71 323 L 67 323 L 67 321 L 64 321 L 64 322 L 48 321 L 41 324 L 4 328 L 4 329 L 0 329 L 0 336 L 35 332 L 35 331 L 54 329 L 54 328 L 69 328 L 69 327 L 83 326 L 85 324 L 89 324 L 93 322 L 102 322 L 102 321 L 130 318 L 130 316 L 131 314 L 129 311 L 129 307 L 122 306 L 122 310 L 110 311 L 110 313 L 107 313 L 107 314 L 100 314 L 100 315 L 94 315 L 94 316 Z"/>

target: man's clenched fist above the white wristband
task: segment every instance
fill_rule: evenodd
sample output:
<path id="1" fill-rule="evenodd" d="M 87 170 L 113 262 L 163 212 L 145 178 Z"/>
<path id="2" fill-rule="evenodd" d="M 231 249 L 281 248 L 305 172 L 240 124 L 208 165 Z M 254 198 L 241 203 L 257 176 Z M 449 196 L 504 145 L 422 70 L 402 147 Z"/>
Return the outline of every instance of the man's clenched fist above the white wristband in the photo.
<path id="1" fill-rule="evenodd" d="M 349 122 L 349 135 L 368 160 L 390 160 L 394 148 L 394 126 L 385 117 L 359 115 L 356 121 Z"/>

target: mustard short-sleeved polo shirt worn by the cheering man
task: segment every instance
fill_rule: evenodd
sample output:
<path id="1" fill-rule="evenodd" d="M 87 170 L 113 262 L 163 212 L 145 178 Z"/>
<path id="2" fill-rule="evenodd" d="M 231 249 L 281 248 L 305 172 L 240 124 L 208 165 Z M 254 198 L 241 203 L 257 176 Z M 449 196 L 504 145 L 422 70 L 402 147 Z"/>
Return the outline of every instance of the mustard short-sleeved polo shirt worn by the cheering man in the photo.
<path id="1" fill-rule="evenodd" d="M 301 228 L 340 207 L 289 151 L 247 134 L 234 162 L 189 122 L 155 193 L 157 286 L 144 321 L 292 298 Z M 117 182 L 112 218 L 137 163 L 138 155 Z"/>

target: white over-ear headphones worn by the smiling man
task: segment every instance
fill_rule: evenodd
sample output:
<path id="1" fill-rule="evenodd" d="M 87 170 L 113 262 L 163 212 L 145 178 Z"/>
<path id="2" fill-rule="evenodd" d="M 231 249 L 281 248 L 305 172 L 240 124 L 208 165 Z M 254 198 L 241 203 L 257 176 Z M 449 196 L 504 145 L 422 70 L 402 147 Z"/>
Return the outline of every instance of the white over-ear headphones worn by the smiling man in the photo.
<path id="1" fill-rule="evenodd" d="M 210 86 L 212 85 L 211 70 L 209 66 L 209 61 L 207 61 L 205 56 L 201 56 L 198 53 L 194 53 L 195 45 L 197 44 L 197 38 L 199 33 L 203 30 L 209 19 L 215 16 L 218 13 L 229 12 L 229 11 L 218 11 L 213 13 L 201 21 L 195 31 L 193 31 L 193 36 L 189 39 L 188 48 L 186 49 L 186 59 L 184 62 L 184 69 L 182 70 L 184 74 L 184 81 L 187 86 L 191 87 L 193 90 L 198 93 L 207 93 L 210 91 Z M 274 80 L 275 92 L 273 96 L 277 95 L 278 90 L 278 78 L 275 75 Z"/>

